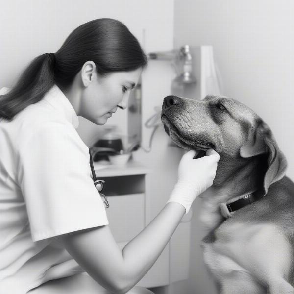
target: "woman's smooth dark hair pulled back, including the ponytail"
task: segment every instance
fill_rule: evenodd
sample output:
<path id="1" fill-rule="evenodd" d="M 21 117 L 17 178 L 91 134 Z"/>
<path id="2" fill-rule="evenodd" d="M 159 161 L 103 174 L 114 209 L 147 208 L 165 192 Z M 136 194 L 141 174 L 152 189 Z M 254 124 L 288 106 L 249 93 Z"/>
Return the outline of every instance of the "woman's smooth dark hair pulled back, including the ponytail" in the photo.
<path id="1" fill-rule="evenodd" d="M 147 64 L 138 40 L 123 23 L 108 18 L 90 21 L 74 29 L 55 54 L 42 54 L 29 64 L 15 86 L 0 96 L 0 118 L 12 120 L 40 101 L 54 83 L 69 86 L 88 60 L 100 76 Z"/>

